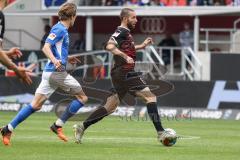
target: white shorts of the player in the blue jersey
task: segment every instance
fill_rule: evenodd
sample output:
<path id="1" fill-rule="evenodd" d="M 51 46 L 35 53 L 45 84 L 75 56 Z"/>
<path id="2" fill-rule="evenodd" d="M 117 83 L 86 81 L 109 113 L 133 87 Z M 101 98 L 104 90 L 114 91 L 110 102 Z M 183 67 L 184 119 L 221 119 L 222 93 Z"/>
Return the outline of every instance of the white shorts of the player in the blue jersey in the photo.
<path id="1" fill-rule="evenodd" d="M 72 95 L 82 91 L 79 82 L 67 72 L 43 72 L 42 81 L 36 93 L 49 98 L 58 88 Z"/>

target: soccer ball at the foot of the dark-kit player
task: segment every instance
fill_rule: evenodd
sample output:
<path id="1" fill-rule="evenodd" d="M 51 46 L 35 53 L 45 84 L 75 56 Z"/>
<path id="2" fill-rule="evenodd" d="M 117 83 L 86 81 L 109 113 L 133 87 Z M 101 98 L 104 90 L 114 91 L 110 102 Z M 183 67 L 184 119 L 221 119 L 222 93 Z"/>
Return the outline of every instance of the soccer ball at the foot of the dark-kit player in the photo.
<path id="1" fill-rule="evenodd" d="M 160 141 L 164 146 L 173 146 L 177 142 L 177 133 L 171 128 L 166 128 Z"/>

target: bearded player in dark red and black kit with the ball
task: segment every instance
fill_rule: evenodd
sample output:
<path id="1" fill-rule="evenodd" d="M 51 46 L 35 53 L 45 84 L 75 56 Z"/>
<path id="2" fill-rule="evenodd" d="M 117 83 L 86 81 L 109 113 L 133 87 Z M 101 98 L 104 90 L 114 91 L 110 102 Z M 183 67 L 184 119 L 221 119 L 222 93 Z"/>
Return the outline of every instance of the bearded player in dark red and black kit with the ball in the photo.
<path id="1" fill-rule="evenodd" d="M 140 97 L 145 102 L 159 140 L 161 140 L 163 135 L 168 134 L 167 131 L 164 131 L 160 121 L 156 96 L 151 92 L 146 82 L 134 71 L 136 50 L 144 49 L 149 44 L 152 44 L 152 38 L 147 38 L 140 45 L 134 44 L 130 33 L 137 23 L 134 10 L 130 8 L 122 9 L 120 19 L 121 25 L 117 27 L 106 45 L 106 49 L 114 55 L 115 64 L 111 70 L 114 91 L 107 98 L 103 107 L 96 109 L 82 124 L 74 125 L 75 140 L 77 143 L 81 143 L 84 131 L 89 126 L 112 113 L 127 93 Z"/>

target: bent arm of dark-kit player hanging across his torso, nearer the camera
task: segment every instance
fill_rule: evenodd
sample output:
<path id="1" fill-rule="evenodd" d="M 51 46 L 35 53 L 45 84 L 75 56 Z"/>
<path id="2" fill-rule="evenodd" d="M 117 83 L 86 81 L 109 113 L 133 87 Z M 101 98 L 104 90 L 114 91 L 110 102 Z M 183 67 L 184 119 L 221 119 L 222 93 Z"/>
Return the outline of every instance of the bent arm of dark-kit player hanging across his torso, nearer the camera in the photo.
<path id="1" fill-rule="evenodd" d="M 106 50 L 111 52 L 113 55 L 118 55 L 121 56 L 122 58 L 124 58 L 127 63 L 134 63 L 133 59 L 129 56 L 127 56 L 125 53 L 123 53 L 122 51 L 120 51 L 117 47 L 116 47 L 116 42 L 112 39 L 110 39 L 106 45 Z"/>

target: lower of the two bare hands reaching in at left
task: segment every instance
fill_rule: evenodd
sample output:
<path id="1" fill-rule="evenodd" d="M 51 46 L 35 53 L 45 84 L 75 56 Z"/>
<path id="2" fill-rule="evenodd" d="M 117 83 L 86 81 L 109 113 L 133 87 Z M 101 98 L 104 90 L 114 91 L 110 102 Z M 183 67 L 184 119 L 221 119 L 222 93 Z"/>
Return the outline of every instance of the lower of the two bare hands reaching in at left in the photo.
<path id="1" fill-rule="evenodd" d="M 28 85 L 32 84 L 32 79 L 29 75 L 29 73 L 31 73 L 31 70 L 18 66 L 16 69 L 14 69 L 14 72 L 21 81 L 27 83 Z"/>

